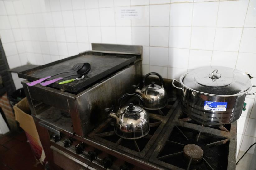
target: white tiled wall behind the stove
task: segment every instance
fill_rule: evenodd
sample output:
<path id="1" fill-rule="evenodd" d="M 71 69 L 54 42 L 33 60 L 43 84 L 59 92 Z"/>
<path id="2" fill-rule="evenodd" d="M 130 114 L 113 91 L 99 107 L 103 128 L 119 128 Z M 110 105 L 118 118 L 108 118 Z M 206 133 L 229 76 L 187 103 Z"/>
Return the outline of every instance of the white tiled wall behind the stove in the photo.
<path id="1" fill-rule="evenodd" d="M 138 17 L 121 18 L 121 9 Z M 144 75 L 178 79 L 189 69 L 221 65 L 256 77 L 255 9 L 255 0 L 0 0 L 0 37 L 10 67 L 46 64 L 90 43 L 118 43 L 143 45 Z M 241 150 L 256 141 L 255 96 L 247 96 L 238 122 Z"/>

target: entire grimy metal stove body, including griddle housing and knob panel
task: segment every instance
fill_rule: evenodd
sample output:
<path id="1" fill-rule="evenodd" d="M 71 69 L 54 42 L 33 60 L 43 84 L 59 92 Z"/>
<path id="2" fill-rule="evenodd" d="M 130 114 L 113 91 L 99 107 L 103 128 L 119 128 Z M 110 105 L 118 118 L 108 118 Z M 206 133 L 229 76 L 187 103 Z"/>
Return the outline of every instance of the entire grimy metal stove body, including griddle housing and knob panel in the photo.
<path id="1" fill-rule="evenodd" d="M 120 80 L 124 81 L 120 83 Z M 181 111 L 180 92 L 174 90 L 167 79 L 164 87 L 168 105 L 160 110 L 147 110 L 150 117 L 148 135 L 135 140 L 117 136 L 113 119 L 104 115 L 104 108 L 116 105 L 118 98 L 133 92 L 131 85 L 141 80 L 139 59 L 78 94 L 40 86 L 31 90 L 33 88 L 29 89 L 24 84 L 26 81 L 23 82 L 50 168 L 235 169 L 236 122 L 223 127 L 205 127 L 193 122 Z M 149 78 L 146 83 L 152 80 L 158 83 L 156 78 Z M 31 92 L 40 92 L 41 99 Z M 90 122 L 93 116 L 84 114 L 85 110 L 76 106 L 87 108 L 92 103 L 97 107 L 90 110 L 90 114 L 102 110 L 102 119 L 96 119 L 96 123 Z M 49 105 L 51 107 L 47 107 Z M 81 122 L 82 116 L 86 121 Z M 195 153 L 198 158 L 191 156 Z"/>

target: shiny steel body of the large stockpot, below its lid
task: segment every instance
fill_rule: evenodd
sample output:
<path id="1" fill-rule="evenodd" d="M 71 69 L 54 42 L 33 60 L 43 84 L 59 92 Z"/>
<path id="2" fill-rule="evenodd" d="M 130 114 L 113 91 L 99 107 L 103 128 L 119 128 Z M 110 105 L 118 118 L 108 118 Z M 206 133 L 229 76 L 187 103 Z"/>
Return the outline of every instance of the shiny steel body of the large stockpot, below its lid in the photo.
<path id="1" fill-rule="evenodd" d="M 246 94 L 239 96 L 221 97 L 193 92 L 183 87 L 182 110 L 192 120 L 211 126 L 220 126 L 235 122 L 242 114 Z M 211 111 L 204 109 L 205 101 L 227 102 L 226 111 Z"/>

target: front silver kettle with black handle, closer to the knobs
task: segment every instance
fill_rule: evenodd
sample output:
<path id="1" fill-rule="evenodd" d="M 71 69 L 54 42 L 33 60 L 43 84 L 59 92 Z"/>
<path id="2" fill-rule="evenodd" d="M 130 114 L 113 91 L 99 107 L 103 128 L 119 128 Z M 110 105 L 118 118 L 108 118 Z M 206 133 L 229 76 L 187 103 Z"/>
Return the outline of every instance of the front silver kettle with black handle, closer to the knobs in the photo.
<path id="1" fill-rule="evenodd" d="M 126 97 L 136 97 L 139 99 L 139 103 L 144 105 L 141 96 L 135 93 L 127 93 L 119 99 L 117 113 L 114 113 L 110 108 L 106 108 L 105 111 L 109 113 L 109 117 L 114 118 L 116 135 L 124 139 L 138 139 L 147 135 L 150 130 L 149 115 L 143 109 L 143 106 L 134 105 L 133 103 L 121 107 L 121 102 Z"/>

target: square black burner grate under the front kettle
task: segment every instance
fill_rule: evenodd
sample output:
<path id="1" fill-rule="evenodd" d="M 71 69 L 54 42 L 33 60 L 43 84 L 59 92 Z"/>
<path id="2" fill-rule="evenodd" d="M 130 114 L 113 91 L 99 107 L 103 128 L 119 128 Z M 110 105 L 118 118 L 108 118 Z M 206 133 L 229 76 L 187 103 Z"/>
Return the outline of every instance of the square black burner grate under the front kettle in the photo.
<path id="1" fill-rule="evenodd" d="M 148 151 L 148 148 L 150 148 L 151 145 L 153 145 L 153 141 L 159 134 L 159 125 L 162 123 L 160 120 L 152 118 L 149 119 L 149 122 L 149 133 L 146 136 L 139 139 L 123 139 L 117 136 L 114 132 L 113 119 L 108 119 L 99 128 L 94 130 L 88 136 L 98 141 L 102 141 L 107 145 L 143 157 Z"/>

